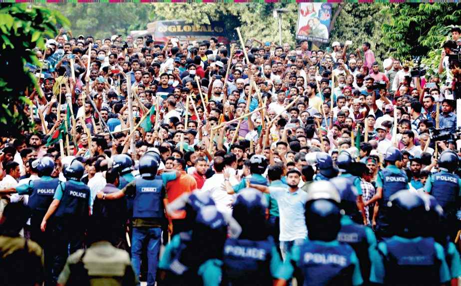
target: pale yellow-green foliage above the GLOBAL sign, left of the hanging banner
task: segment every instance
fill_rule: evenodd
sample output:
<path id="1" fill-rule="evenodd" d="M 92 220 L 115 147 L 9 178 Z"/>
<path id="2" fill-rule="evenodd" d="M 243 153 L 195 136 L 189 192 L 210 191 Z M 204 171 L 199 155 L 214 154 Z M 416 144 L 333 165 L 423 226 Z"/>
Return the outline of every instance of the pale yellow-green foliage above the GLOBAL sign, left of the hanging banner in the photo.
<path id="1" fill-rule="evenodd" d="M 272 9 L 290 9 L 282 16 L 282 41 L 292 46 L 295 43 L 297 3 L 155 3 L 153 7 L 155 20 L 185 19 L 195 24 L 221 21 L 231 38 L 238 39 L 236 28 L 240 27 L 244 41 L 255 37 L 274 43 L 279 42 L 279 20 L 272 16 Z"/>

